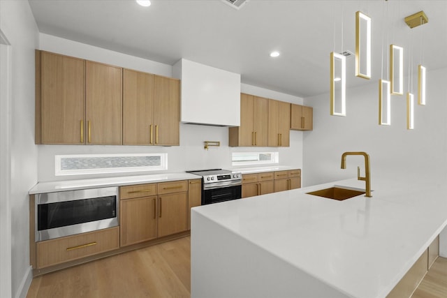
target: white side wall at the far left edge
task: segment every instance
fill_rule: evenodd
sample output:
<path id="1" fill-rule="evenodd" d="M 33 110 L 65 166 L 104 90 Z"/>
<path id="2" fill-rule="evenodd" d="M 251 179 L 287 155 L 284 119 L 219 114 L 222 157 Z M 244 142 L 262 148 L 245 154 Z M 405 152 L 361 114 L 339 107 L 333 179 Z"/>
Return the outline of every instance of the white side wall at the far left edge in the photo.
<path id="1" fill-rule="evenodd" d="M 24 297 L 31 282 L 28 191 L 37 181 L 38 156 L 34 145 L 34 49 L 38 29 L 28 1 L 0 1 L 0 29 L 10 43 L 11 67 L 10 140 L 1 140 L 10 148 L 10 193 L 0 200 L 2 208 L 10 208 L 10 231 L 2 230 L 2 234 L 11 235 L 10 271 L 0 271 L 0 278 L 8 281 L 10 288 L 1 288 L 0 296 Z M 1 108 L 4 106 L 2 100 Z"/>

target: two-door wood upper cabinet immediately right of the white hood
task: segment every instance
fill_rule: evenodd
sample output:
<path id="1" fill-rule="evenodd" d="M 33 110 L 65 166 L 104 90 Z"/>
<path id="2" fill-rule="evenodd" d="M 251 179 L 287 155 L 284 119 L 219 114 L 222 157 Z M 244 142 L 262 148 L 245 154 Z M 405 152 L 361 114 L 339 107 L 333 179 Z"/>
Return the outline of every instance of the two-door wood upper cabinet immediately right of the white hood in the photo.
<path id="1" fill-rule="evenodd" d="M 268 146 L 268 98 L 241 94 L 240 126 L 229 128 L 230 147 Z"/>

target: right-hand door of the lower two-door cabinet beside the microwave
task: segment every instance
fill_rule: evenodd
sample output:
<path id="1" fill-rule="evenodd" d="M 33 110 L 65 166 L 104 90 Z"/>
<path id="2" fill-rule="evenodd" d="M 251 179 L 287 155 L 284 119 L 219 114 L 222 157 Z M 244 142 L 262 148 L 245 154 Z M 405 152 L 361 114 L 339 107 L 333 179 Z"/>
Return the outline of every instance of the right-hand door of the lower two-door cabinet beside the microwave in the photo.
<path id="1" fill-rule="evenodd" d="M 158 236 L 188 230 L 188 193 L 159 195 Z"/>

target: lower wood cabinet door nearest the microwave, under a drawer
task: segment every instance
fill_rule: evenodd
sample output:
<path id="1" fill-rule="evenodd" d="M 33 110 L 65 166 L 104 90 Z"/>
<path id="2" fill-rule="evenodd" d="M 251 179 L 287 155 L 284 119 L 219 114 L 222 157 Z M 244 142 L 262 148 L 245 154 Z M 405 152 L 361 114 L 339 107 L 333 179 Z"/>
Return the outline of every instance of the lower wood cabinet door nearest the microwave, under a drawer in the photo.
<path id="1" fill-rule="evenodd" d="M 156 238 L 156 196 L 120 202 L 121 246 Z"/>

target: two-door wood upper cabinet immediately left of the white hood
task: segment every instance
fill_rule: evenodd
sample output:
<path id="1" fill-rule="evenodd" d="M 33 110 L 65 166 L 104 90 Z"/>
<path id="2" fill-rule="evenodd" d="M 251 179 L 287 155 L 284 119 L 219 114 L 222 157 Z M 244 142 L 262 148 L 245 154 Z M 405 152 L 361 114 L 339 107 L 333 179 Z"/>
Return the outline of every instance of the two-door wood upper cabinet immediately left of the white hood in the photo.
<path id="1" fill-rule="evenodd" d="M 123 70 L 123 144 L 179 144 L 179 80 Z"/>

